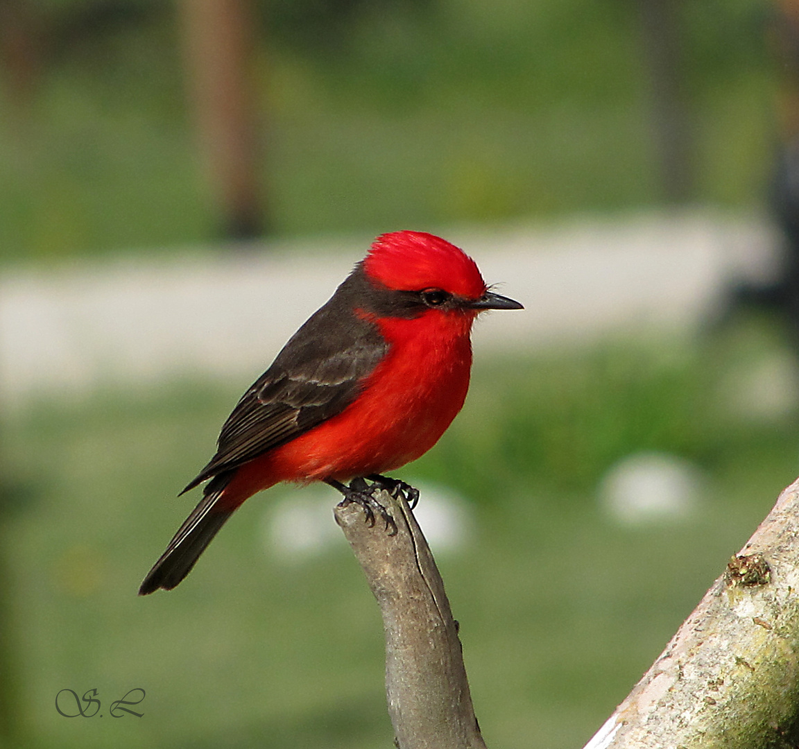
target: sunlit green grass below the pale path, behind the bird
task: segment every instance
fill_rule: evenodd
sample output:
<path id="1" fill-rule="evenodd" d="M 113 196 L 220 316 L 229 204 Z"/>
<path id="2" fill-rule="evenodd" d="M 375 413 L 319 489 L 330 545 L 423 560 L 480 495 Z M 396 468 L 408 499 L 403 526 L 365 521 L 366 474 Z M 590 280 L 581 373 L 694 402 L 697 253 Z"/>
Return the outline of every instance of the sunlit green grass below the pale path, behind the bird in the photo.
<path id="1" fill-rule="evenodd" d="M 582 746 L 795 478 L 795 414 L 745 421 L 725 395 L 731 372 L 781 350 L 756 320 L 694 343 L 478 355 L 463 414 L 401 474 L 474 507 L 468 552 L 439 566 L 489 746 Z M 343 542 L 295 565 L 266 553 L 268 495 L 188 581 L 135 595 L 193 504 L 173 494 L 241 389 L 176 384 L 6 418 L 3 585 L 28 746 L 391 745 L 380 617 L 360 570 Z M 704 472 L 690 522 L 630 529 L 600 511 L 602 474 L 638 450 Z M 137 687 L 141 719 L 54 709 L 64 688 L 97 688 L 107 707 Z"/>

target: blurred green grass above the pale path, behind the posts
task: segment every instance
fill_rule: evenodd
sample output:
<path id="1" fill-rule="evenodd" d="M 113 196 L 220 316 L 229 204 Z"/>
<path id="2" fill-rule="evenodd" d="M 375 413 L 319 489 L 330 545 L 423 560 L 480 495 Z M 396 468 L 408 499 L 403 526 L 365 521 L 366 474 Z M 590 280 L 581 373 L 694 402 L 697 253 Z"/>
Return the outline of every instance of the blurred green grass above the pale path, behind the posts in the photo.
<path id="1" fill-rule="evenodd" d="M 73 0 L 42 2 L 68 18 Z M 179 28 L 163 4 L 0 90 L 0 262 L 217 239 Z M 261 3 L 261 177 L 280 235 L 382 232 L 658 204 L 634 6 L 590 0 Z M 49 10 L 47 10 L 49 9 Z M 761 0 L 682 9 L 689 200 L 762 202 L 775 66 Z M 3 98 L 5 96 L 5 98 Z"/>

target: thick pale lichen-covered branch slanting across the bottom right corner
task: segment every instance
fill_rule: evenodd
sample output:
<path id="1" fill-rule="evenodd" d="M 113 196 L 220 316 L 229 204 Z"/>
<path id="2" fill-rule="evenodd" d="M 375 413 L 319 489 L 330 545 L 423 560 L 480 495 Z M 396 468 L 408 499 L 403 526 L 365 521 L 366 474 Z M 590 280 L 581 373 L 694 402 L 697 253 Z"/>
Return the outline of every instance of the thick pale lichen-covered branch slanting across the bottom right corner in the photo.
<path id="1" fill-rule="evenodd" d="M 585 749 L 799 746 L 799 479 Z"/>

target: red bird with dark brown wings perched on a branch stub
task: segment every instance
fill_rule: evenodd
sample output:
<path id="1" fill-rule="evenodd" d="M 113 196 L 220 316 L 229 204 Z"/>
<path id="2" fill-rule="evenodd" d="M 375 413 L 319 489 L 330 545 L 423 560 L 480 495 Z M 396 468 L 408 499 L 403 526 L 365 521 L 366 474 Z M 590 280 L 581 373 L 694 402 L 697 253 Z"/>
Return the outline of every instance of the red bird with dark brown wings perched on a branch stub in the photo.
<path id="1" fill-rule="evenodd" d="M 342 481 L 409 489 L 380 474 L 430 450 L 463 406 L 477 315 L 515 309 L 455 245 L 379 236 L 233 409 L 217 454 L 183 489 L 210 479 L 203 498 L 139 594 L 174 588 L 233 511 L 280 481 L 326 481 L 374 521 L 365 481 Z"/>

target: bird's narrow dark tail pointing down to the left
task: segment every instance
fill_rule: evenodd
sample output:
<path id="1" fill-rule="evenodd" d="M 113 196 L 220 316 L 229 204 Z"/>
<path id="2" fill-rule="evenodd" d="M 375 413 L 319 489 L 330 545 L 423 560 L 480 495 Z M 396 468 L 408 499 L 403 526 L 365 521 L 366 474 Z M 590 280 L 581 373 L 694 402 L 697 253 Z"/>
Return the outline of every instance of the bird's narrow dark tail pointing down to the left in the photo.
<path id="1" fill-rule="evenodd" d="M 166 551 L 141 583 L 140 596 L 146 596 L 158 588 L 172 590 L 191 572 L 205 547 L 233 514 L 232 509 L 218 509 L 214 505 L 234 473 L 227 471 L 220 474 L 205 486 L 205 496 L 177 530 Z"/>

